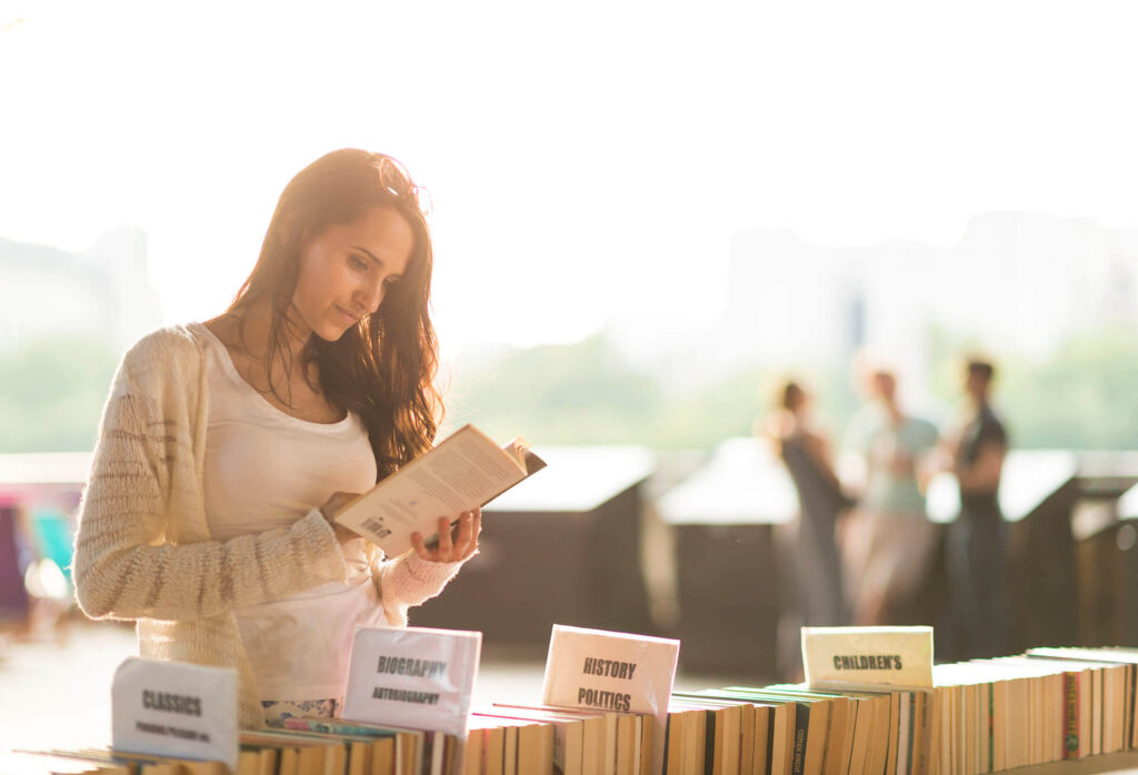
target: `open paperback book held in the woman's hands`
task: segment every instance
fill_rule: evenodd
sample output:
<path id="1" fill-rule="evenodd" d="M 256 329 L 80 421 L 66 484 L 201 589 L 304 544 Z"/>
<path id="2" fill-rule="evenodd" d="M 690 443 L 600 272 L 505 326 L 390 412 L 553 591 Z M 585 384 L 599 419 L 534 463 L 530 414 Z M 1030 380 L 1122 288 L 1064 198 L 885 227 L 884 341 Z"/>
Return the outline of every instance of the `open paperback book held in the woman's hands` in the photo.
<path id="1" fill-rule="evenodd" d="M 333 519 L 396 557 L 411 549 L 412 533 L 421 533 L 429 544 L 438 538 L 439 517 L 453 524 L 461 512 L 485 506 L 544 467 L 526 441 L 498 447 L 473 425 L 463 425 L 348 502 Z"/>

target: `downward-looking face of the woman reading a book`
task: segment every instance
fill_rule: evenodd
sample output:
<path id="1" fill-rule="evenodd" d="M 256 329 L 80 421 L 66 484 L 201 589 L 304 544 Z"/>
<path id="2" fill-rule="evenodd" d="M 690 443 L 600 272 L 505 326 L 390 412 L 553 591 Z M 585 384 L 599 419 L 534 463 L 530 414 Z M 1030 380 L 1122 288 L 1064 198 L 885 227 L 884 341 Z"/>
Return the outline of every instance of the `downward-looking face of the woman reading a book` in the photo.
<path id="1" fill-rule="evenodd" d="M 406 272 L 414 242 L 411 224 L 387 207 L 308 240 L 292 294 L 299 322 L 325 341 L 338 340 L 379 309 Z"/>

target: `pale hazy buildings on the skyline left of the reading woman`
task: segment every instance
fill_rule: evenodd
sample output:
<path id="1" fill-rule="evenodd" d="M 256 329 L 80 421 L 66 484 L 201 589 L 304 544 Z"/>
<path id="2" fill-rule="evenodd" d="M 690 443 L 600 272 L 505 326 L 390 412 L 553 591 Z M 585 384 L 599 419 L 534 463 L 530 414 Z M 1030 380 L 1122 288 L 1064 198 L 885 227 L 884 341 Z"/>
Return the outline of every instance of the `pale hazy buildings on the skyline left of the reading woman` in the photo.
<path id="1" fill-rule="evenodd" d="M 121 351 L 162 325 L 146 233 L 124 227 L 71 252 L 0 238 L 0 350 L 82 333 Z"/>

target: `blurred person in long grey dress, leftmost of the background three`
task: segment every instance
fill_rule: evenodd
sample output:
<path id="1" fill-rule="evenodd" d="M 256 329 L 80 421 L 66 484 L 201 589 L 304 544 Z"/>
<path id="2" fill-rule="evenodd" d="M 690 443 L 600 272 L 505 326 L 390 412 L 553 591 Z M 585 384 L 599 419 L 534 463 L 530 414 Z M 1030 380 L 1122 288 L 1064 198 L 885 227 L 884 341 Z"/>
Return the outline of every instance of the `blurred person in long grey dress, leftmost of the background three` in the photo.
<path id="1" fill-rule="evenodd" d="M 799 519 L 794 567 L 798 575 L 802 624 L 848 624 L 842 591 L 841 559 L 835 528 L 852 501 L 834 473 L 828 440 L 810 422 L 810 395 L 793 381 L 778 391 L 778 409 L 765 432 L 798 492 Z"/>

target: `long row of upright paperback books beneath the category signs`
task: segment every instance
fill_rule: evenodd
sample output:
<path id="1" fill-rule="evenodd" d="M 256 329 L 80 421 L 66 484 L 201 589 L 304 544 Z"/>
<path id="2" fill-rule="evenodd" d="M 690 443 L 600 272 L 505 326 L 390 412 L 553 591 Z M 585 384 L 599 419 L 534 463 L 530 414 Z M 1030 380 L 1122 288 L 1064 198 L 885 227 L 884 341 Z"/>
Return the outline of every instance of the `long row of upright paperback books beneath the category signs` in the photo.
<path id="1" fill-rule="evenodd" d="M 645 714 L 498 705 L 465 740 L 341 719 L 245 733 L 238 775 L 975 775 L 1138 744 L 1138 650 L 1032 649 L 933 667 L 932 690 L 805 685 L 677 692 Z M 55 751 L 75 768 L 221 775 L 215 763 Z M 84 758 L 86 757 L 86 758 Z M 85 768 L 84 768 L 85 767 Z"/>

